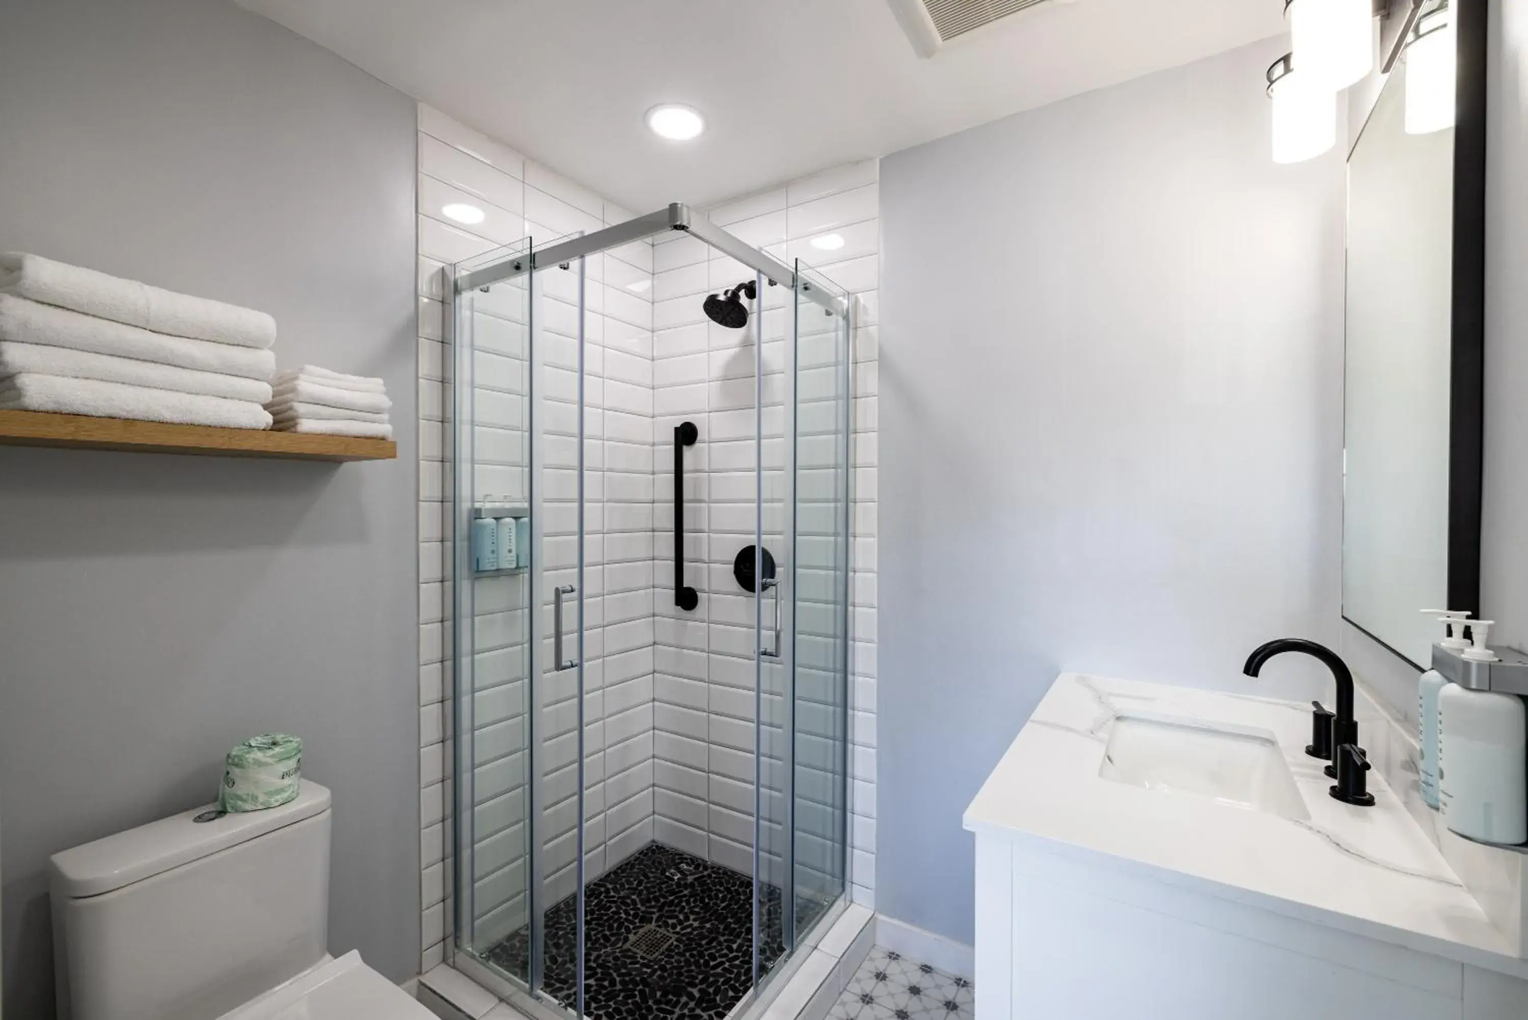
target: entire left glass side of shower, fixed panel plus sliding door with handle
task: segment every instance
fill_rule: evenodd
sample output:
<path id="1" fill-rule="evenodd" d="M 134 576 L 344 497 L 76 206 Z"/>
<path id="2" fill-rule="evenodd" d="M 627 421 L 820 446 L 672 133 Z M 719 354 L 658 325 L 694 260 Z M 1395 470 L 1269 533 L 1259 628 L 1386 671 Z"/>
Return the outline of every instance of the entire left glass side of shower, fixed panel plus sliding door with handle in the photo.
<path id="1" fill-rule="evenodd" d="M 533 245 L 458 265 L 457 945 L 581 1009 L 585 728 L 585 260 Z"/>

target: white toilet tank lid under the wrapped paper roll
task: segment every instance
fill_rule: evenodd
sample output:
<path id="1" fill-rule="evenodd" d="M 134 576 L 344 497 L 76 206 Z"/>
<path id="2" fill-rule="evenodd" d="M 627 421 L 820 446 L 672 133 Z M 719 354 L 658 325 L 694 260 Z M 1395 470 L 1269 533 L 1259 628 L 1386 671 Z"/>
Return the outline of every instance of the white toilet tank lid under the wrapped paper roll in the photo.
<path id="1" fill-rule="evenodd" d="M 327 810 L 329 789 L 303 780 L 296 800 L 280 807 L 196 821 L 197 817 L 215 812 L 215 809 L 217 804 L 203 804 L 138 829 L 118 832 L 104 840 L 55 853 L 52 858 L 53 895 L 72 899 L 99 896 L 255 836 L 263 836 L 267 832 L 284 829 Z"/>

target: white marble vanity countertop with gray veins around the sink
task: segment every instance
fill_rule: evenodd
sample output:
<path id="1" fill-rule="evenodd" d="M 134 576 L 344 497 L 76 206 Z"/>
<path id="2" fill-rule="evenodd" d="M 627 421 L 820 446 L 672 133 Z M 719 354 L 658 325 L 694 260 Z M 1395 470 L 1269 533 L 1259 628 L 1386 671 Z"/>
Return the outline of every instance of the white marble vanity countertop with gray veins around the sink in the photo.
<path id="1" fill-rule="evenodd" d="M 1271 733 L 1309 818 L 1103 778 L 1105 745 L 1115 720 L 1129 716 Z M 1063 673 L 964 824 L 1129 861 L 1201 892 L 1528 977 L 1522 947 L 1491 925 L 1378 769 L 1369 772 L 1372 807 L 1328 795 L 1325 763 L 1305 754 L 1309 731 L 1308 703 Z"/>

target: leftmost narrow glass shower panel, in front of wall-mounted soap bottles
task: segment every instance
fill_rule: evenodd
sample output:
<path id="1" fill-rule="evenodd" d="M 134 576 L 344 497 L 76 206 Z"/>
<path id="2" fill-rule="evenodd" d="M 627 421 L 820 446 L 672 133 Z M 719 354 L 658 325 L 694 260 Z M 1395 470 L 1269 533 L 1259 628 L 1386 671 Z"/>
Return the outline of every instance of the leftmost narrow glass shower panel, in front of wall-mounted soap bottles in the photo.
<path id="1" fill-rule="evenodd" d="M 527 254 L 529 242 L 452 275 Z M 527 277 L 458 295 L 452 327 L 457 945 L 526 982 L 527 960 L 494 950 L 532 899 Z"/>

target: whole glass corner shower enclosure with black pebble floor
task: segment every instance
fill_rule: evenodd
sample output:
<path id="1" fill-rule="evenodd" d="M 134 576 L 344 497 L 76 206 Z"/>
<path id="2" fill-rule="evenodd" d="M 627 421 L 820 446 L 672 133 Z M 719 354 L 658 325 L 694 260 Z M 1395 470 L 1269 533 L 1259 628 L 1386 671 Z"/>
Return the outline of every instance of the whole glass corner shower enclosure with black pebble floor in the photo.
<path id="1" fill-rule="evenodd" d="M 451 962 L 530 1012 L 758 1012 L 843 904 L 851 303 L 790 254 L 452 266 Z"/>

